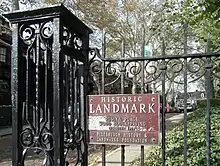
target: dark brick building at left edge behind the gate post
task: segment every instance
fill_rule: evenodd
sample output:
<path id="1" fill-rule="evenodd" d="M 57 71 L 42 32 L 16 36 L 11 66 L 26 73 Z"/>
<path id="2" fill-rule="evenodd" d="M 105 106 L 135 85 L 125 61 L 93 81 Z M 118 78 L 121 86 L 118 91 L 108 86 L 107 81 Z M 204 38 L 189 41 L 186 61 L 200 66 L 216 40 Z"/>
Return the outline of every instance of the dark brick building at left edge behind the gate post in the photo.
<path id="1" fill-rule="evenodd" d="M 0 16 L 0 126 L 11 124 L 11 45 L 10 24 Z"/>

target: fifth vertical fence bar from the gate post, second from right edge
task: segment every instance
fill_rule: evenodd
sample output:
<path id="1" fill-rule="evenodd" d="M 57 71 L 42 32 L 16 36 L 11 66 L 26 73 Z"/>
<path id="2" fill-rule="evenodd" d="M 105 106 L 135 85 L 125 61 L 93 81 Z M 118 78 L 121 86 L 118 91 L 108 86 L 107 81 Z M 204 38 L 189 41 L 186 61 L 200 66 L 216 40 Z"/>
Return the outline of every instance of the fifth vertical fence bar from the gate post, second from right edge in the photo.
<path id="1" fill-rule="evenodd" d="M 184 23 L 184 54 L 187 55 L 187 24 Z M 184 165 L 187 166 L 187 58 L 184 58 Z"/>

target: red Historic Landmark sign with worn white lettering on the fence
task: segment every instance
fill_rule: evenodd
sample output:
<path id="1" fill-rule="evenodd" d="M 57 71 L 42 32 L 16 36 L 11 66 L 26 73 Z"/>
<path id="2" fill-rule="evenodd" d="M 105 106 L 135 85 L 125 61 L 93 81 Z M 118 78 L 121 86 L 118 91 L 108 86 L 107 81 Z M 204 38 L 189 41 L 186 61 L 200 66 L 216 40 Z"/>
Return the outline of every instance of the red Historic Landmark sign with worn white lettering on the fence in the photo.
<path id="1" fill-rule="evenodd" d="M 89 95 L 91 144 L 158 144 L 160 95 Z"/>

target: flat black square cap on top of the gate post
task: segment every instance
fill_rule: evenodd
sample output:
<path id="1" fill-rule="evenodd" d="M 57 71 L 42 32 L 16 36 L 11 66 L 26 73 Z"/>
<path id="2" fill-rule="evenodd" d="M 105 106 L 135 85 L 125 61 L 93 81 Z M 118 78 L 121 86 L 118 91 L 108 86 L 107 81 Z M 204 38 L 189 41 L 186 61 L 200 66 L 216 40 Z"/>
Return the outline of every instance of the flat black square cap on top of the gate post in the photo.
<path id="1" fill-rule="evenodd" d="M 63 4 L 32 10 L 17 10 L 10 13 L 4 13 L 3 16 L 5 16 L 12 24 L 60 17 L 71 27 L 75 27 L 81 31 L 86 30 L 88 33 L 92 33 L 92 30 L 80 19 L 78 19 L 71 11 L 69 11 Z"/>

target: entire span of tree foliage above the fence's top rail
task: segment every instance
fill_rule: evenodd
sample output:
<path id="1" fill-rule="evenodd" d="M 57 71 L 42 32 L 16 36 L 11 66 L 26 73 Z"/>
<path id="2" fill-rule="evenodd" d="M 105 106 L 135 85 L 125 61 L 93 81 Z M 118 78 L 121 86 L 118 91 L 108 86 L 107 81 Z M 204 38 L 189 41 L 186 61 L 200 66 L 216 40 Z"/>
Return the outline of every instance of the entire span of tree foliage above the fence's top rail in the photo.
<path id="1" fill-rule="evenodd" d="M 8 10 L 7 6 L 10 6 L 12 2 L 16 4 L 15 2 L 18 1 L 3 0 L 3 8 Z M 29 6 L 39 6 L 40 4 L 36 0 L 20 0 L 19 2 Z M 207 41 L 208 33 L 211 37 L 211 48 L 213 50 L 220 49 L 220 43 L 218 42 L 220 36 L 218 18 L 220 13 L 217 0 L 189 0 L 184 3 L 171 0 L 159 0 L 157 3 L 151 0 L 98 0 L 89 2 L 87 0 L 42 0 L 41 4 L 60 2 L 66 4 L 95 31 L 99 31 L 93 37 L 94 40 L 99 38 L 96 45 L 99 43 L 100 46 L 100 30 L 107 31 L 112 38 L 125 38 L 126 53 L 129 56 L 141 55 L 140 45 L 143 37 L 141 27 L 145 30 L 144 39 L 146 44 L 153 44 L 154 54 L 161 54 L 158 47 L 160 47 L 159 43 L 163 36 L 165 36 L 167 54 L 183 53 L 184 38 L 180 37 L 184 34 L 183 23 L 188 23 L 188 33 L 195 37 L 194 39 L 188 38 L 188 40 L 199 42 L 199 46 L 196 46 L 199 47 L 198 49 L 203 48 L 201 43 Z M 114 48 L 114 45 L 110 45 L 110 47 Z M 110 51 L 110 54 L 113 54 L 113 52 Z"/>

